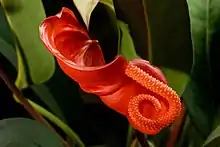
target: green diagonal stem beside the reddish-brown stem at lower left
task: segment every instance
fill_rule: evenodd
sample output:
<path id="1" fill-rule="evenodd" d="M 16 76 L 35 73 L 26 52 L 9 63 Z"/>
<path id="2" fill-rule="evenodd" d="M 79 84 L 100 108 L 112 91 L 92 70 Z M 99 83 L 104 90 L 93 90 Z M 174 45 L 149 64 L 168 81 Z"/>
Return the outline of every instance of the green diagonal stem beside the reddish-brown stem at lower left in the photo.
<path id="1" fill-rule="evenodd" d="M 28 102 L 32 105 L 32 107 L 38 111 L 41 115 L 43 115 L 45 118 L 50 120 L 52 123 L 60 127 L 63 132 L 65 132 L 73 141 L 75 141 L 80 147 L 85 147 L 84 143 L 81 141 L 81 139 L 78 137 L 78 135 L 72 131 L 72 129 L 63 123 L 58 117 L 53 115 L 51 112 L 47 111 L 43 107 L 39 106 L 38 104 L 32 102 L 31 100 L 28 100 Z"/>

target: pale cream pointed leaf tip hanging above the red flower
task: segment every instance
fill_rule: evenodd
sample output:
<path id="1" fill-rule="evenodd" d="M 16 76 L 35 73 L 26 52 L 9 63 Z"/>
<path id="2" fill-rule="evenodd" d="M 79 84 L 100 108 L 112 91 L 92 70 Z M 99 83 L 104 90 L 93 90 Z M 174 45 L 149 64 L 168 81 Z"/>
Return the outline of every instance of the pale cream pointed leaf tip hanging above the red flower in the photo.
<path id="1" fill-rule="evenodd" d="M 89 21 L 92 11 L 95 9 L 98 2 L 99 0 L 86 0 L 86 1 L 73 0 L 73 3 L 75 4 L 76 8 L 81 14 L 81 17 L 87 27 L 89 27 Z"/>

